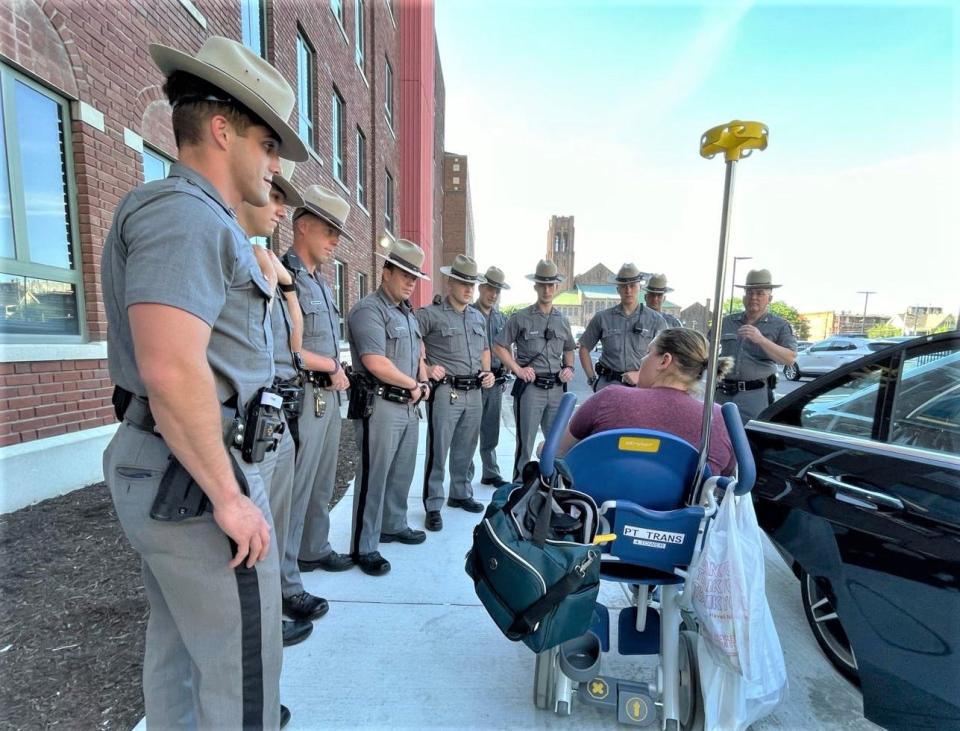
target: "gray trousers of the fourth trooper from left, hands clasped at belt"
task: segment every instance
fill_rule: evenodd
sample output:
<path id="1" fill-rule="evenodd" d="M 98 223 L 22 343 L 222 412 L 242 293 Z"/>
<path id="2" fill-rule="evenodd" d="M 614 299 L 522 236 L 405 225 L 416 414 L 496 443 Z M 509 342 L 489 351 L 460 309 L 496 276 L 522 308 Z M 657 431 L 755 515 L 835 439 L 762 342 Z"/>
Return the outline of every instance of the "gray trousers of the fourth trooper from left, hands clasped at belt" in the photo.
<path id="1" fill-rule="evenodd" d="M 353 488 L 350 551 L 376 551 L 381 533 L 400 533 L 417 459 L 420 417 L 413 404 L 377 398 L 373 414 L 357 419 L 360 463 Z"/>

